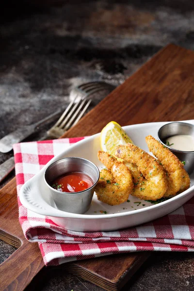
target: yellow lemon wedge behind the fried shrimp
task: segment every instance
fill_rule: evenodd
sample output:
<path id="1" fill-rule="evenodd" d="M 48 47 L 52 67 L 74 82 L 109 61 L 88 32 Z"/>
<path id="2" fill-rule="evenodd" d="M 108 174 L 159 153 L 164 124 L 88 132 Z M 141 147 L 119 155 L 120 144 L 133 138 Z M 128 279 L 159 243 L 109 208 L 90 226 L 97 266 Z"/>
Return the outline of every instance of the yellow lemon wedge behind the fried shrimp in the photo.
<path id="1" fill-rule="evenodd" d="M 110 155 L 115 154 L 116 147 L 131 143 L 134 145 L 125 130 L 115 121 L 109 122 L 101 131 L 100 146 L 103 151 Z"/>

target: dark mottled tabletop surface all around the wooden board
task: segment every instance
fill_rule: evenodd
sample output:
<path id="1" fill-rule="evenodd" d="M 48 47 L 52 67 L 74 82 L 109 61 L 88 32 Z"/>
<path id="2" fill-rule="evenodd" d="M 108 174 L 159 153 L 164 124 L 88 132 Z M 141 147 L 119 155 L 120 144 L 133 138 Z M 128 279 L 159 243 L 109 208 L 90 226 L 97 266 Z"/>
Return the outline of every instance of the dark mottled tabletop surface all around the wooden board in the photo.
<path id="1" fill-rule="evenodd" d="M 66 106 L 72 86 L 121 84 L 168 43 L 194 49 L 194 0 L 1 1 L 0 138 Z M 90 108 L 104 96 L 94 96 Z M 0 154 L 0 162 L 12 154 Z M 10 252 L 1 243 L 0 257 Z M 155 253 L 124 290 L 191 291 L 192 258 Z M 39 290 L 102 290 L 63 270 L 43 273 Z"/>

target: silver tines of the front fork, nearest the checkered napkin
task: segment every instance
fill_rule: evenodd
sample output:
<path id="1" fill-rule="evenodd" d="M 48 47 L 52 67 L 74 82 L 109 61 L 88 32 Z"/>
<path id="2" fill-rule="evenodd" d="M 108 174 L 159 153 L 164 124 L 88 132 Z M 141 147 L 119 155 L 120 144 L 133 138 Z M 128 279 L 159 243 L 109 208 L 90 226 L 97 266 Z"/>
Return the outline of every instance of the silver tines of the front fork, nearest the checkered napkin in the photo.
<path id="1" fill-rule="evenodd" d="M 65 112 L 61 115 L 59 120 L 55 123 L 55 125 L 47 131 L 49 136 L 58 138 L 63 133 L 74 126 L 86 112 L 88 106 L 91 103 L 91 99 L 88 98 L 80 98 L 77 95 L 65 109 Z"/>

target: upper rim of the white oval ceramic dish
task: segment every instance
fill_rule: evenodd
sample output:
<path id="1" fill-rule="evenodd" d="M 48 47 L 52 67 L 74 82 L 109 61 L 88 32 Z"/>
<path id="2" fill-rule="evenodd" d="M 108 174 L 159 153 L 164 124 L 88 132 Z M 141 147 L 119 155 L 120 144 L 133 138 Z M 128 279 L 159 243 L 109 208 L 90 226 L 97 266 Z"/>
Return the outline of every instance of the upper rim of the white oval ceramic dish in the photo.
<path id="1" fill-rule="evenodd" d="M 173 122 L 173 121 L 172 121 Z M 182 122 L 186 122 L 186 123 L 193 123 L 194 124 L 194 119 L 192 120 L 185 120 L 185 121 L 182 121 Z M 162 125 L 165 125 L 167 123 L 170 123 L 170 121 L 168 122 L 149 122 L 149 123 L 142 123 L 142 124 L 134 124 L 134 125 L 128 125 L 128 126 L 124 126 L 122 127 L 124 130 L 126 128 L 129 128 L 129 127 L 138 127 L 138 126 L 147 126 L 149 124 L 151 125 L 159 125 L 160 127 L 162 127 Z M 35 179 L 35 178 L 38 178 L 39 176 L 42 175 L 43 173 L 43 176 L 44 176 L 44 173 L 45 173 L 45 170 L 47 169 L 47 167 L 49 167 L 49 165 L 57 160 L 60 160 L 61 158 L 58 158 L 60 155 L 64 155 L 65 153 L 68 153 L 68 151 L 71 151 L 72 148 L 76 148 L 76 147 L 79 147 L 81 144 L 84 144 L 84 143 L 87 143 L 89 140 L 93 140 L 95 139 L 97 136 L 99 136 L 100 133 L 96 133 L 94 135 L 91 135 L 77 143 L 75 143 L 74 145 L 72 145 L 71 147 L 69 147 L 68 149 L 65 149 L 63 152 L 61 152 L 60 154 L 56 155 L 55 157 L 53 157 L 41 170 L 40 172 L 38 172 L 35 176 L 33 176 L 31 179 L 29 179 L 26 183 L 24 183 L 20 189 L 20 192 L 19 192 L 19 199 L 22 203 L 22 205 L 24 207 L 26 207 L 27 209 L 29 210 L 32 210 L 33 212 L 35 213 L 38 213 L 38 214 L 41 214 L 41 215 L 45 215 L 45 216 L 50 216 L 50 217 L 61 217 L 61 218 L 80 218 L 80 219 L 105 219 L 105 218 L 117 218 L 117 217 L 123 217 L 123 216 L 128 216 L 128 215 L 134 215 L 134 214 L 138 214 L 138 213 L 141 213 L 141 212 L 145 212 L 145 211 L 152 211 L 152 210 L 155 210 L 156 208 L 161 208 L 162 206 L 165 206 L 166 204 L 169 204 L 175 200 L 178 200 L 178 199 L 181 199 L 183 196 L 186 196 L 190 193 L 192 193 L 194 191 L 194 185 L 191 186 L 190 188 L 188 188 L 186 191 L 180 193 L 180 194 L 177 194 L 176 196 L 172 197 L 172 198 L 169 198 L 167 199 L 166 201 L 162 201 L 158 204 L 155 204 L 155 205 L 150 205 L 150 206 L 147 206 L 145 208 L 142 208 L 142 209 L 137 209 L 137 210 L 130 210 L 130 211 L 125 211 L 125 212 L 120 212 L 120 213 L 111 213 L 111 214 L 104 214 L 104 215 L 99 215 L 99 214 L 77 214 L 77 213 L 71 213 L 71 212 L 65 212 L 65 211 L 62 211 L 62 210 L 58 210 L 58 209 L 55 209 L 54 207 L 52 207 L 51 205 L 49 205 L 43 198 L 44 200 L 44 203 L 46 203 L 50 208 L 52 208 L 53 211 L 56 211 L 56 213 L 52 213 L 52 214 L 48 214 L 49 210 L 44 210 L 44 209 L 40 209 L 38 207 L 35 207 L 33 206 L 29 201 L 25 200 L 25 198 L 23 198 L 23 190 L 24 188 L 26 188 L 27 186 L 29 186 L 30 183 L 32 183 L 32 181 Z M 23 203 L 23 201 L 25 203 Z M 170 201 L 170 202 L 169 202 Z M 24 205 L 25 204 L 25 205 Z M 27 207 L 26 205 L 30 206 L 30 207 Z M 38 211 L 35 211 L 34 208 Z M 47 213 L 46 213 L 47 212 Z"/>

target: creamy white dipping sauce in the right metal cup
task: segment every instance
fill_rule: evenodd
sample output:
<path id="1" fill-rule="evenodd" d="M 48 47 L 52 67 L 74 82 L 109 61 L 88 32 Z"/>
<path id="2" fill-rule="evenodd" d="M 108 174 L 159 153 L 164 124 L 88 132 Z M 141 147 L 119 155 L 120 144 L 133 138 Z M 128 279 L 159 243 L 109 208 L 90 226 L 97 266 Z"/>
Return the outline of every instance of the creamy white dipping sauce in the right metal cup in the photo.
<path id="1" fill-rule="evenodd" d="M 182 151 L 194 151 L 194 136 L 174 135 L 168 137 L 166 145 Z"/>

